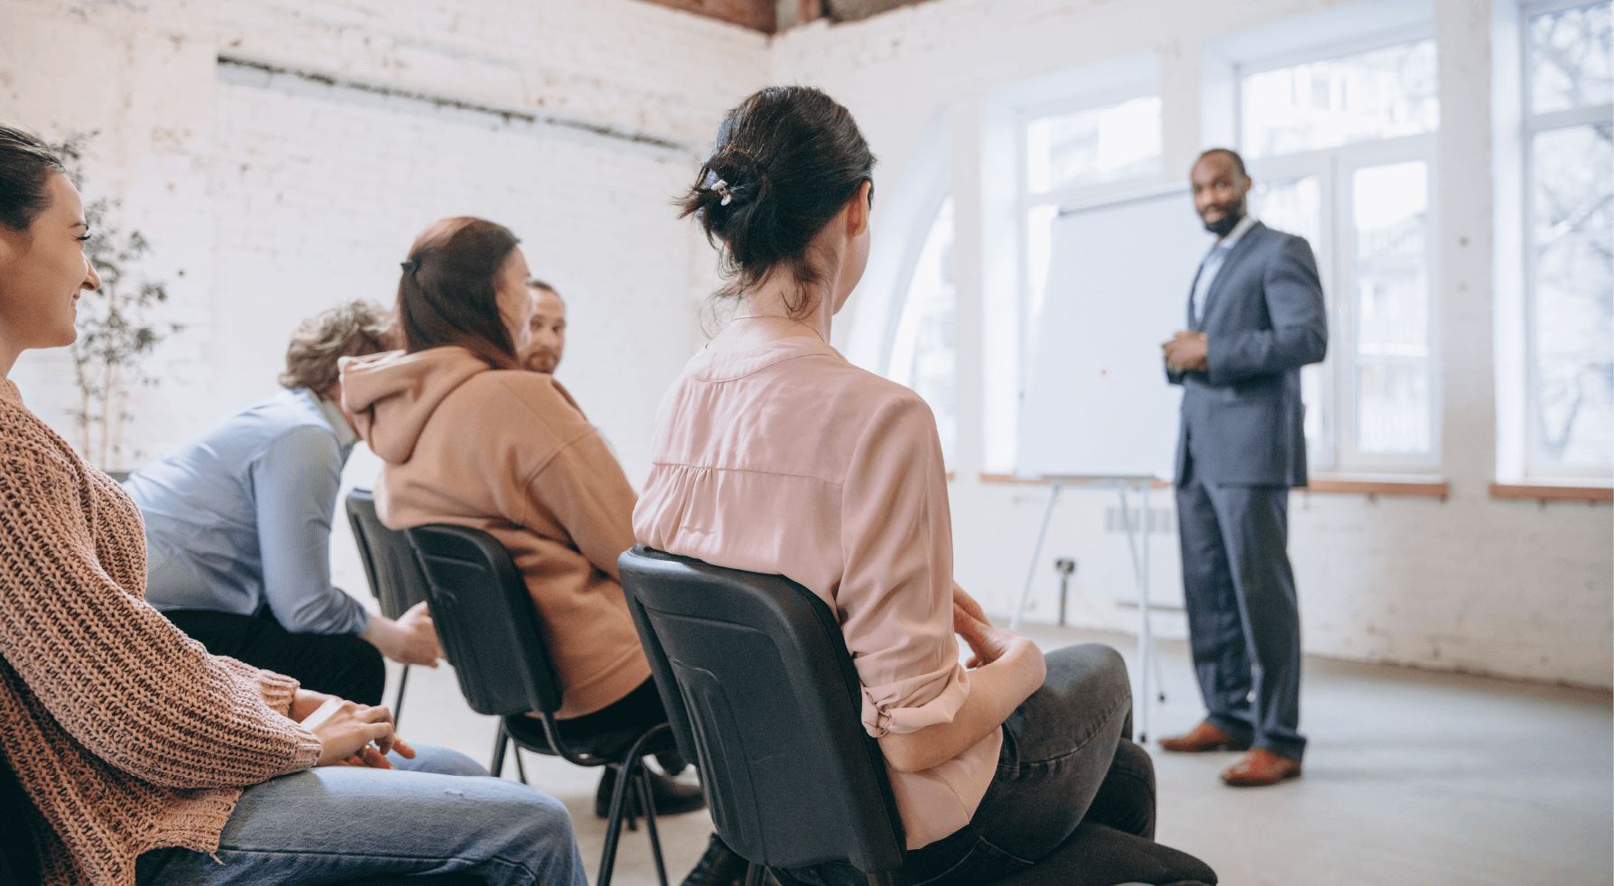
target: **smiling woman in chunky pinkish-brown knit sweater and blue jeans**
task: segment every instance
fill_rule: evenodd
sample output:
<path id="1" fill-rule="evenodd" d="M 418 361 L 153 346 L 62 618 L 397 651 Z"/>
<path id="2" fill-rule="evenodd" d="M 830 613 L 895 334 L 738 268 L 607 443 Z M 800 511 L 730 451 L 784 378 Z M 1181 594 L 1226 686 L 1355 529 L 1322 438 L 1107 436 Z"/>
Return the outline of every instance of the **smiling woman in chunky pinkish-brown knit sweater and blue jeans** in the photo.
<path id="1" fill-rule="evenodd" d="M 87 239 L 61 163 L 0 126 L 0 374 L 73 344 Z M 0 381 L 0 847 L 23 881 L 586 886 L 554 799 L 455 778 L 481 770 L 416 754 L 384 707 L 208 655 L 144 586 L 134 504 Z"/>

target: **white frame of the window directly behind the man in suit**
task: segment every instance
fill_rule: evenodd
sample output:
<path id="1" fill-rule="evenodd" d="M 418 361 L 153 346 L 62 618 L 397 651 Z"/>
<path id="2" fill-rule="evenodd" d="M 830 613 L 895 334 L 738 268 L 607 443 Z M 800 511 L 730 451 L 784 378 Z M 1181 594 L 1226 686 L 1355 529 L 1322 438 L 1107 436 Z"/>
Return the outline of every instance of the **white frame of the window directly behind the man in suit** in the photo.
<path id="1" fill-rule="evenodd" d="M 1404 44 L 1435 39 L 1430 23 L 1380 29 L 1344 40 L 1315 44 L 1299 50 L 1238 60 L 1231 65 L 1233 142 L 1243 153 L 1244 144 L 1244 77 L 1346 55 L 1390 48 Z M 1435 52 L 1438 55 L 1440 45 Z M 1319 365 L 1322 373 L 1322 441 L 1307 441 L 1307 466 L 1319 474 L 1433 474 L 1441 470 L 1443 449 L 1443 323 L 1440 284 L 1440 126 L 1428 132 L 1394 136 L 1346 145 L 1314 148 L 1275 157 L 1246 158 L 1246 168 L 1254 181 L 1282 181 L 1304 176 L 1319 178 L 1319 236 L 1322 244 L 1312 244 L 1317 255 L 1319 278 L 1323 287 L 1323 303 L 1328 316 L 1328 355 Z M 1362 452 L 1359 449 L 1359 373 L 1356 353 L 1357 305 L 1356 292 L 1356 228 L 1353 176 L 1357 169 L 1393 163 L 1422 161 L 1428 171 L 1425 270 L 1427 270 L 1427 341 L 1428 355 L 1428 450 L 1422 453 Z M 1256 213 L 1259 218 L 1259 213 Z M 1325 247 L 1325 249 L 1322 249 Z M 1320 445 L 1317 445 L 1320 444 Z"/>

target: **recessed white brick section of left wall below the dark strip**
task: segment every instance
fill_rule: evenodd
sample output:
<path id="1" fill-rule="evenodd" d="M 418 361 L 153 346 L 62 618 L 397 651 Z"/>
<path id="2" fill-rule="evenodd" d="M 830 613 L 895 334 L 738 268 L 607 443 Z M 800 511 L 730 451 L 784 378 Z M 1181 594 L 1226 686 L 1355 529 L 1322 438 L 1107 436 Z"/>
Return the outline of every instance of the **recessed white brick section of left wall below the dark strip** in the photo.
<path id="1" fill-rule="evenodd" d="M 689 350 L 692 234 L 667 205 L 692 174 L 688 155 L 323 92 L 213 92 L 213 334 L 232 358 L 211 399 L 273 391 L 265 366 L 300 318 L 355 297 L 391 303 L 415 236 L 475 215 L 515 231 L 533 273 L 567 295 L 560 379 L 642 476 L 654 392 Z"/>

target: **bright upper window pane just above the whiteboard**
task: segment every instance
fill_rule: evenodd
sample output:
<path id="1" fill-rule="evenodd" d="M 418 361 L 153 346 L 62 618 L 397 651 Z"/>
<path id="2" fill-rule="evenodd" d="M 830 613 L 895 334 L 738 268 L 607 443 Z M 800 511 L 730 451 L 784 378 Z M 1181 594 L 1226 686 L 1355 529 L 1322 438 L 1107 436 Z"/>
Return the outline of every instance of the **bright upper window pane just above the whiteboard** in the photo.
<path id="1" fill-rule="evenodd" d="M 1160 174 L 1160 97 L 1041 116 L 1027 124 L 1033 194 Z"/>

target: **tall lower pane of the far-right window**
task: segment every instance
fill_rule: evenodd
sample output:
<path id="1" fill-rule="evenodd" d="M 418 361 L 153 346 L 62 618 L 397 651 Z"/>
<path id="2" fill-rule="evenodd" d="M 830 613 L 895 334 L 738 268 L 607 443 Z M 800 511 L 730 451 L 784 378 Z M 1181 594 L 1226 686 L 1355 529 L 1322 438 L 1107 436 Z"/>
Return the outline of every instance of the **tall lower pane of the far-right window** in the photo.
<path id="1" fill-rule="evenodd" d="M 1614 124 L 1532 140 L 1535 453 L 1614 465 Z"/>

